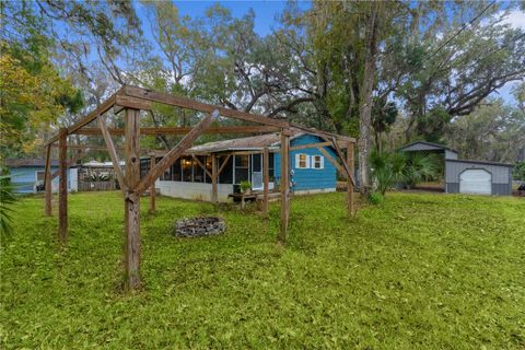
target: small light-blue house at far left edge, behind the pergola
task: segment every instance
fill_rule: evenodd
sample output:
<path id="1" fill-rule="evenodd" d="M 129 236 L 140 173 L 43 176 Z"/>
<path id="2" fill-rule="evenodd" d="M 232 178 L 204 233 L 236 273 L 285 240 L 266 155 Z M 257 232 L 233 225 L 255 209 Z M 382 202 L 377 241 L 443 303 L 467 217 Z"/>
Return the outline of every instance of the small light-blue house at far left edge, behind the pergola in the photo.
<path id="1" fill-rule="evenodd" d="M 11 183 L 18 194 L 36 194 L 44 185 L 46 161 L 35 159 L 8 159 L 5 166 L 11 175 Z M 58 161 L 51 161 L 51 173 L 58 170 Z M 69 182 L 68 182 L 69 183 Z M 58 190 L 58 177 L 52 179 L 52 190 Z M 68 185 L 69 186 L 69 185 Z"/>

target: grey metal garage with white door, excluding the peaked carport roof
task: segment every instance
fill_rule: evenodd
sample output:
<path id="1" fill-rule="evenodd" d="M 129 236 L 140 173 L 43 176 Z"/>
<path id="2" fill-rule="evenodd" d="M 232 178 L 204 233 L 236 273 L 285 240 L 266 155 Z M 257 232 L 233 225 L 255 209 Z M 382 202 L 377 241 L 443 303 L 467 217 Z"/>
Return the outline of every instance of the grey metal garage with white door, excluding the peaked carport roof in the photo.
<path id="1" fill-rule="evenodd" d="M 445 160 L 445 191 L 492 196 L 512 195 L 512 165 Z"/>

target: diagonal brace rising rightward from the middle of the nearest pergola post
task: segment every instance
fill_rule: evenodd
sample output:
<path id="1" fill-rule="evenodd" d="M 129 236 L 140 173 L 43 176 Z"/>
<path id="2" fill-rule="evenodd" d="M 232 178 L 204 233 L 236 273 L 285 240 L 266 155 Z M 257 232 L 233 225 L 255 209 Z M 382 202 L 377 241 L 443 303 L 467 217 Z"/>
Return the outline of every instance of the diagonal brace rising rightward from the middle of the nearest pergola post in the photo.
<path id="1" fill-rule="evenodd" d="M 191 143 L 197 140 L 199 136 L 211 125 L 211 122 L 219 117 L 219 112 L 214 110 L 209 114 L 202 120 L 197 124 L 197 126 L 191 129 L 178 144 L 173 148 L 159 163 L 155 164 L 155 167 L 148 172 L 144 178 L 140 182 L 137 187 L 137 194 L 141 195 L 145 188 L 150 187 L 153 182 L 155 182 L 159 176 L 161 176 L 166 168 L 168 168 L 178 158 L 180 158 L 190 147 Z"/>

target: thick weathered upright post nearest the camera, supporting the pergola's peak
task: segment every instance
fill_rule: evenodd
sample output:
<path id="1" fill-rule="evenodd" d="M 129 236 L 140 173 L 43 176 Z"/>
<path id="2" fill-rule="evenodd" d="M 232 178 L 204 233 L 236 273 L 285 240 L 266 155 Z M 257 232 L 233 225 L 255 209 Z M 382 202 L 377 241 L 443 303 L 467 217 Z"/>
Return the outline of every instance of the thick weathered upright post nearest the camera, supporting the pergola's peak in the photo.
<path id="1" fill-rule="evenodd" d="M 140 183 L 140 110 L 126 109 L 126 180 L 128 189 L 124 200 L 125 210 L 125 289 L 135 290 L 140 280 L 140 195 L 137 186 Z"/>

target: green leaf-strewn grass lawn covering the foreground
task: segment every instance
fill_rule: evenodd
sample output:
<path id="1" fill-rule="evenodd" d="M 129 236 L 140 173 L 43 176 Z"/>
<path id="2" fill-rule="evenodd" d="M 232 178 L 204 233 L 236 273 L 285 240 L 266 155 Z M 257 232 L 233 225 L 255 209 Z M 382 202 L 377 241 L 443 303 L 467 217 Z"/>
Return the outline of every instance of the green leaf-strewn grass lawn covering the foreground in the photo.
<path id="1" fill-rule="evenodd" d="M 1 247 L 2 349 L 525 349 L 525 200 L 388 194 L 345 219 L 343 194 L 271 219 L 224 210 L 222 236 L 175 238 L 208 203 L 142 201 L 144 290 L 119 291 L 118 192 L 70 196 L 70 237 L 42 198 Z"/>

